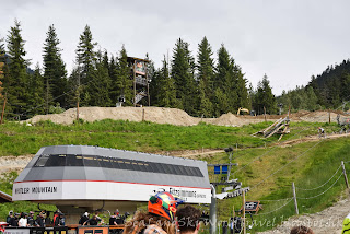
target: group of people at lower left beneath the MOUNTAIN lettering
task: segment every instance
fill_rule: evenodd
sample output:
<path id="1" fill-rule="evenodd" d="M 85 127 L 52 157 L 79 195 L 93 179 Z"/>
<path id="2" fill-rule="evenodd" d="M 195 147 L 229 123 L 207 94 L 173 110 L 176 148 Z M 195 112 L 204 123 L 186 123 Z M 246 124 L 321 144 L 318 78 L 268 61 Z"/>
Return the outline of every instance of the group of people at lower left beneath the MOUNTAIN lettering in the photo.
<path id="1" fill-rule="evenodd" d="M 65 226 L 65 214 L 59 210 L 55 211 L 52 221 L 49 218 L 49 211 L 39 211 L 37 215 L 34 215 L 34 211 L 16 213 L 12 210 L 7 217 L 7 223 L 9 226 L 34 226 L 45 227 L 46 225 Z"/>

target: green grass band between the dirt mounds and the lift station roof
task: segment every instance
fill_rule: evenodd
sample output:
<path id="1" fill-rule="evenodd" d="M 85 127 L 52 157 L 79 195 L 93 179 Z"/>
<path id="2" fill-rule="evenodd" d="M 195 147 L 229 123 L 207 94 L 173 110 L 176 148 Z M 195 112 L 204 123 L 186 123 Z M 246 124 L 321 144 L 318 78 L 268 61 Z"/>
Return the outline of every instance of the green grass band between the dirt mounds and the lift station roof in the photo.
<path id="1" fill-rule="evenodd" d="M 160 152 L 174 150 L 222 149 L 238 144 L 240 148 L 261 147 L 275 142 L 253 137 L 272 122 L 260 122 L 244 127 L 224 127 L 200 124 L 183 127 L 152 122 L 102 120 L 71 126 L 50 121 L 34 126 L 9 122 L 0 126 L 0 156 L 35 154 L 44 145 L 88 144 L 131 151 Z M 292 133 L 283 140 L 317 133 L 318 124 L 292 124 Z M 335 125 L 324 125 L 328 132 Z"/>

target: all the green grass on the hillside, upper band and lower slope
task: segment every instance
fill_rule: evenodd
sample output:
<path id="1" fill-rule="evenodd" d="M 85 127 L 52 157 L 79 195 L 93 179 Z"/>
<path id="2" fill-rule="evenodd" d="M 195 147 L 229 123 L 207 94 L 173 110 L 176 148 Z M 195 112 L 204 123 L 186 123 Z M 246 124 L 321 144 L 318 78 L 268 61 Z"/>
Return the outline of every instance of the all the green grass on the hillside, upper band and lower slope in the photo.
<path id="1" fill-rule="evenodd" d="M 238 150 L 234 152 L 234 162 L 237 162 L 238 166 L 234 168 L 232 178 L 238 178 L 243 182 L 244 187 L 250 187 L 247 200 L 261 200 L 264 210 L 259 212 L 260 215 L 255 217 L 255 220 L 261 225 L 254 230 L 266 230 L 270 227 L 271 223 L 276 225 L 281 220 L 294 214 L 293 202 L 288 203 L 292 197 L 292 182 L 300 188 L 318 187 L 335 174 L 340 161 L 350 160 L 347 156 L 347 152 L 350 150 L 350 139 L 348 138 L 319 140 L 281 148 L 272 147 L 278 136 L 269 139 L 252 136 L 270 124 L 260 122 L 235 128 L 205 124 L 179 127 L 114 120 L 72 126 L 55 125 L 49 121 L 35 126 L 10 122 L 0 126 L 0 155 L 34 154 L 43 145 L 55 144 L 89 144 L 143 152 L 198 150 L 201 148 L 222 149 L 237 144 Z M 291 133 L 283 137 L 283 140 L 316 134 L 318 126 L 319 124 L 292 122 Z M 322 126 L 326 132 L 338 130 L 336 125 L 323 124 Z M 228 155 L 224 153 L 213 157 L 199 156 L 198 159 L 209 163 L 229 162 Z M 347 164 L 347 167 L 350 168 L 350 164 Z M 311 191 L 299 189 L 296 191 L 298 197 L 311 198 L 324 192 L 334 184 L 322 196 L 300 199 L 300 213 L 323 210 L 339 198 L 345 189 L 342 178 L 336 182 L 339 173 L 340 171 L 329 183 L 318 189 Z M 211 176 L 211 179 L 219 178 Z M 0 188 L 2 187 L 0 186 Z M 220 192 L 221 188 L 219 187 L 217 190 Z M 279 209 L 285 203 L 285 207 Z M 12 209 L 11 206 L 13 209 L 22 207 L 24 211 L 34 209 L 32 208 L 34 204 L 28 202 L 2 204 L 0 218 L 4 218 L 8 210 Z M 220 200 L 218 206 L 219 219 L 228 220 L 231 217 L 233 206 L 235 210 L 241 208 L 242 198 Z M 208 208 L 203 207 L 202 209 Z M 276 209 L 279 210 L 271 212 Z"/>

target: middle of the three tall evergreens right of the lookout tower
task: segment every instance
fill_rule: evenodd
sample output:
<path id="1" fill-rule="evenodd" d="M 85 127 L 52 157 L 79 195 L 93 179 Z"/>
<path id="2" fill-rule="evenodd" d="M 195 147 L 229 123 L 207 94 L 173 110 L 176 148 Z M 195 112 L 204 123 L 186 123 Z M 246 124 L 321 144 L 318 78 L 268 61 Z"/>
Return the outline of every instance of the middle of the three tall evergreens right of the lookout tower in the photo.
<path id="1" fill-rule="evenodd" d="M 213 114 L 213 59 L 212 51 L 205 37 L 198 45 L 198 89 L 199 89 L 199 114 L 211 117 Z"/>

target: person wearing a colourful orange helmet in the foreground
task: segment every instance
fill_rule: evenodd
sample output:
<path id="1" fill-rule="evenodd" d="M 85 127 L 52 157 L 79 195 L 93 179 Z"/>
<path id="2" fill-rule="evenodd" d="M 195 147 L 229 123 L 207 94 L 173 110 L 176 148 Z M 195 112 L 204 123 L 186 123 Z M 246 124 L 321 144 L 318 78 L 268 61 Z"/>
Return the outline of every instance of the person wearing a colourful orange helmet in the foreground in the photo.
<path id="1" fill-rule="evenodd" d="M 137 212 L 135 218 L 126 223 L 126 234 L 175 234 L 175 214 L 177 206 L 183 202 L 166 191 L 152 196 L 148 203 L 148 213 Z"/>

